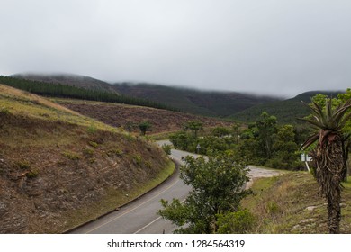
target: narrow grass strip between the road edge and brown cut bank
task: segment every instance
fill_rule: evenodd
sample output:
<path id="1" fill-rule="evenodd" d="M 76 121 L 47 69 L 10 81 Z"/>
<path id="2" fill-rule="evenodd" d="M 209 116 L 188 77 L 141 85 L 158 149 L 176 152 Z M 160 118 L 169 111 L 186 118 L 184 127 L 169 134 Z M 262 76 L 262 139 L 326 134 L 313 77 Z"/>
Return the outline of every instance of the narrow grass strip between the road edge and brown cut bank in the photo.
<path id="1" fill-rule="evenodd" d="M 105 195 L 101 201 L 65 214 L 62 218 L 66 223 L 65 229 L 58 230 L 58 232 L 73 229 L 89 220 L 96 220 L 106 212 L 118 209 L 121 205 L 137 199 L 143 193 L 155 188 L 174 172 L 175 163 L 169 160 L 165 169 L 163 169 L 153 180 L 148 181 L 146 184 L 135 184 L 134 189 L 130 190 L 128 193 L 113 188 L 106 188 Z"/>

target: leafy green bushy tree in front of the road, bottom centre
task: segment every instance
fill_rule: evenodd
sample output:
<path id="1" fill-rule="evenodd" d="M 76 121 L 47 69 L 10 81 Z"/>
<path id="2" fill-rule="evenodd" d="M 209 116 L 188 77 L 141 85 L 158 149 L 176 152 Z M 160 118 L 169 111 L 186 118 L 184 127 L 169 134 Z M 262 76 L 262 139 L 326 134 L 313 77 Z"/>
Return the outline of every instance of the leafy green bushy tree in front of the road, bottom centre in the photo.
<path id="1" fill-rule="evenodd" d="M 181 178 L 193 190 L 184 202 L 162 200 L 158 213 L 180 229 L 178 233 L 213 233 L 219 214 L 238 211 L 240 201 L 249 193 L 246 166 L 229 152 L 209 157 L 185 157 Z"/>

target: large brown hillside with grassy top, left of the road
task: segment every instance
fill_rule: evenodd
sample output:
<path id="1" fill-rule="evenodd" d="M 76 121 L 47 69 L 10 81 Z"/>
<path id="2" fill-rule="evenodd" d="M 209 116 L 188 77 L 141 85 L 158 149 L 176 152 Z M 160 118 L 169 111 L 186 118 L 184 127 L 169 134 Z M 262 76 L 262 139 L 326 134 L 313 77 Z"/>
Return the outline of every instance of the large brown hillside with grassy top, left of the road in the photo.
<path id="1" fill-rule="evenodd" d="M 56 233 L 111 211 L 174 166 L 154 144 L 0 85 L 0 233 Z"/>

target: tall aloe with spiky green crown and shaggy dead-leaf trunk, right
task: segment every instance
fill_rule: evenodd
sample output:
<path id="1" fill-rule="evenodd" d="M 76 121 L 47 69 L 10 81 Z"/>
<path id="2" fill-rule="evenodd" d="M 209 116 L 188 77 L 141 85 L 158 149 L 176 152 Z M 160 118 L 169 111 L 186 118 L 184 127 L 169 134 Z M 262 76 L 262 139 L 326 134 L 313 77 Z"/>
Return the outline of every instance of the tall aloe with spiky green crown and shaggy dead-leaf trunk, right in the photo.
<path id="1" fill-rule="evenodd" d="M 312 124 L 318 130 L 302 144 L 302 149 L 310 147 L 317 140 L 317 146 L 312 150 L 311 157 L 315 166 L 315 177 L 320 185 L 320 193 L 328 202 L 328 227 L 330 233 L 338 233 L 341 220 L 341 181 L 344 173 L 342 129 L 351 113 L 346 114 L 351 107 L 351 100 L 333 109 L 331 99 L 326 102 L 326 108 L 317 103 L 311 103 L 312 119 L 302 119 Z"/>

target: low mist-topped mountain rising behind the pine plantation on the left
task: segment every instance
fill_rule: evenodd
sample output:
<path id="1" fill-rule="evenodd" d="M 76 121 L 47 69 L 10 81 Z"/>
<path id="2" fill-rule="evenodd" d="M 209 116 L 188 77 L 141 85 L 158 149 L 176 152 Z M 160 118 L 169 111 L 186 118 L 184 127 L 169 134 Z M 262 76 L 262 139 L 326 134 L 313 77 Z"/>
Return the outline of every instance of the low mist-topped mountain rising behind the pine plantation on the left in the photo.
<path id="1" fill-rule="evenodd" d="M 88 76 L 78 76 L 71 74 L 55 74 L 55 75 L 42 75 L 42 74 L 16 74 L 16 78 L 28 79 L 33 81 L 41 81 L 47 83 L 58 83 L 64 85 L 74 85 L 87 89 L 118 93 L 112 85 L 102 80 L 94 79 Z"/>

